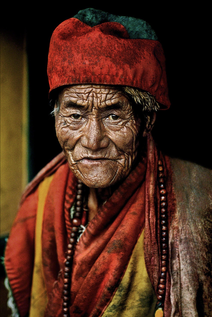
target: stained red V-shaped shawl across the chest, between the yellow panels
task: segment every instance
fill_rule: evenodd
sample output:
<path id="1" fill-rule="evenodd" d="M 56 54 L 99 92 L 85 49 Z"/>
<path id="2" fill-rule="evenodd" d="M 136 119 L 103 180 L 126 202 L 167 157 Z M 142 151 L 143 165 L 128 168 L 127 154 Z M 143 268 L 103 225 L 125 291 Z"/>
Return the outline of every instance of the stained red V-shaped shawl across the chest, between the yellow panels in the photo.
<path id="1" fill-rule="evenodd" d="M 58 188 L 61 191 L 61 187 L 66 189 L 65 168 L 68 169 L 68 165 L 61 166 L 56 172 L 44 210 L 42 249 L 48 294 L 45 316 L 62 315 L 62 269 L 67 236 L 65 219 L 61 218 L 64 204 L 57 191 Z M 144 227 L 145 171 L 145 164 L 140 163 L 100 208 L 80 238 L 72 267 L 71 316 L 100 316 L 112 299 Z M 68 187 L 75 191 L 75 177 L 69 178 Z M 58 271 L 61 274 L 57 279 L 55 272 Z"/>

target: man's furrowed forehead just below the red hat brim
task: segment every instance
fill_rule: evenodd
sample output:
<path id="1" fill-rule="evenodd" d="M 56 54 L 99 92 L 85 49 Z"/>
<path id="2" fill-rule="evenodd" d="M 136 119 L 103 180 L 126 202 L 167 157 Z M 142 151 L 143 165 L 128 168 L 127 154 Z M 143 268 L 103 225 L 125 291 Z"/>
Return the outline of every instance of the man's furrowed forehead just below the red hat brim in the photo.
<path id="1" fill-rule="evenodd" d="M 65 87 L 60 94 L 60 102 L 73 102 L 78 105 L 110 105 L 118 102 L 126 103 L 128 98 L 121 87 L 109 85 L 82 84 Z"/>

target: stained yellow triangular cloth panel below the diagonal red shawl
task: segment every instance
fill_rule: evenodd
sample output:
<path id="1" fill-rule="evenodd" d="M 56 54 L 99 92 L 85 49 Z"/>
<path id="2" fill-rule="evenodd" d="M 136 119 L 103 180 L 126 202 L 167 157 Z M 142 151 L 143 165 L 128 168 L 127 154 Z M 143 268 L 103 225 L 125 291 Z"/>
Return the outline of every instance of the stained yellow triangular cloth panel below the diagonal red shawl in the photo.
<path id="1" fill-rule="evenodd" d="M 102 317 L 153 317 L 157 296 L 147 274 L 142 231 L 125 274 Z"/>

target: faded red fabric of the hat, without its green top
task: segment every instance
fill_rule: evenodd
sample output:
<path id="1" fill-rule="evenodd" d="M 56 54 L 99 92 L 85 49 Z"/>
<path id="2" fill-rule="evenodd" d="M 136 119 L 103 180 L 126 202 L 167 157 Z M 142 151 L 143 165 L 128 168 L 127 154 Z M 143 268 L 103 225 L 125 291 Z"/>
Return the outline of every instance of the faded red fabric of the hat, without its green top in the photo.
<path id="1" fill-rule="evenodd" d="M 51 38 L 47 73 L 50 92 L 83 83 L 132 86 L 170 107 L 161 44 L 130 39 L 120 23 L 90 27 L 76 18 L 62 22 Z"/>

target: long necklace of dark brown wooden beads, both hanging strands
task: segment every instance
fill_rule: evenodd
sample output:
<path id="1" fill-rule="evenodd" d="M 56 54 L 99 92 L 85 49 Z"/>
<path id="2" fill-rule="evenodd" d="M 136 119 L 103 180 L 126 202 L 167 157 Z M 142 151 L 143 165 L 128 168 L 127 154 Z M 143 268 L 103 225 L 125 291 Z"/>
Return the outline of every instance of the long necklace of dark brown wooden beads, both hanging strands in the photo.
<path id="1" fill-rule="evenodd" d="M 167 195 L 164 181 L 164 167 L 162 160 L 158 160 L 158 187 L 160 193 L 160 239 L 161 239 L 161 272 L 157 286 L 157 305 L 155 317 L 163 317 L 163 307 L 166 291 L 166 272 L 168 259 L 168 227 L 167 227 Z M 83 214 L 85 185 L 78 180 L 76 207 L 74 218 L 72 220 L 71 236 L 67 245 L 65 267 L 64 267 L 64 284 L 63 284 L 63 317 L 70 317 L 70 290 L 71 290 L 71 267 L 74 256 L 74 248 L 77 243 L 77 237 L 81 226 Z"/>

